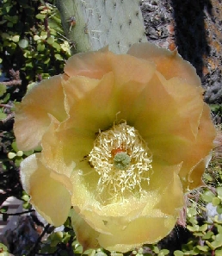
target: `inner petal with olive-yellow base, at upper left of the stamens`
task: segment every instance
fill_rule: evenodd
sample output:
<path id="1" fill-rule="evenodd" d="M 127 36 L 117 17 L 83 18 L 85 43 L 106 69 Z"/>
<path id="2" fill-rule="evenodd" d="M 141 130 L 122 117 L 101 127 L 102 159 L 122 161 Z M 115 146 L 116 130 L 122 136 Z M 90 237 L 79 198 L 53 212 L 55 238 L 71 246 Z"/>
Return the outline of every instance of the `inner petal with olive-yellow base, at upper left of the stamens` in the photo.
<path id="1" fill-rule="evenodd" d="M 83 80 L 85 81 L 85 79 Z M 108 128 L 110 124 L 113 124 L 118 112 L 114 106 L 113 74 L 108 73 L 104 75 L 101 81 L 92 80 L 91 82 L 98 84 L 89 93 L 85 92 L 81 98 L 77 98 L 78 88 L 76 86 L 70 89 L 67 88 L 69 84 L 63 84 L 65 94 L 69 94 L 69 97 L 72 98 L 70 101 L 67 100 L 67 104 L 70 104 L 69 115 L 71 118 L 60 127 L 60 130 L 74 128 L 79 133 L 94 135 L 95 139 L 95 133 L 99 129 Z M 90 83 L 90 79 L 88 83 Z"/>

